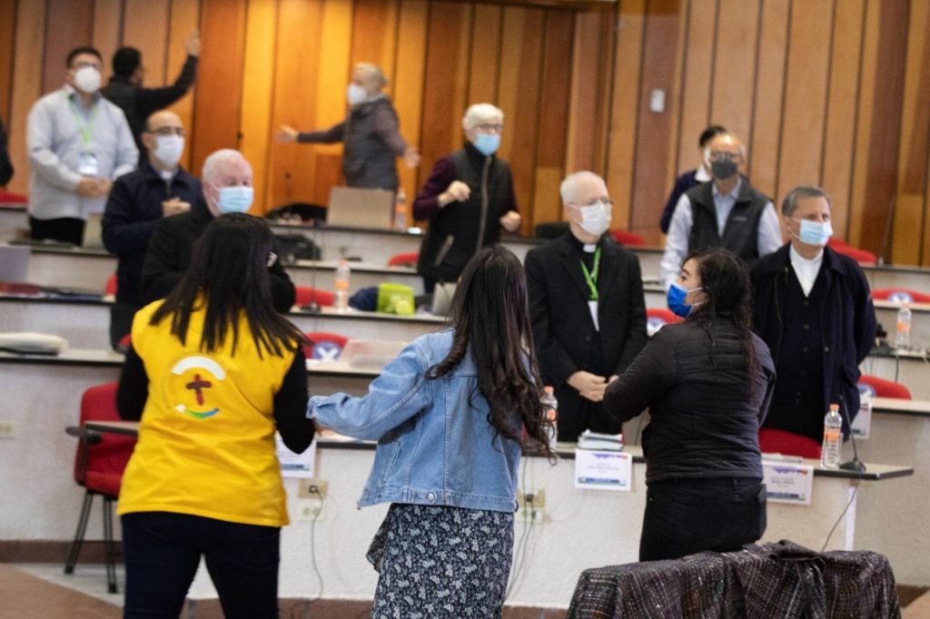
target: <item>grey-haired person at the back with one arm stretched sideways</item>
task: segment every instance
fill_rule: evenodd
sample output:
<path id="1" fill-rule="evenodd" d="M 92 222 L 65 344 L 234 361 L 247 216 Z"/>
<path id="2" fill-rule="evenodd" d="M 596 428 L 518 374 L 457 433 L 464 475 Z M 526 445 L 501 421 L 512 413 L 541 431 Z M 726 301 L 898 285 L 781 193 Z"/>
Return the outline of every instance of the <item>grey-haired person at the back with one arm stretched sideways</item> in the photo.
<path id="1" fill-rule="evenodd" d="M 419 152 L 400 134 L 400 122 L 391 99 L 384 94 L 388 78 L 378 65 L 359 62 L 346 89 L 349 113 L 338 125 L 322 131 L 299 132 L 282 125 L 278 141 L 284 144 L 332 144 L 342 142 L 342 175 L 349 187 L 396 191 L 396 158 L 408 167 L 419 165 Z"/>

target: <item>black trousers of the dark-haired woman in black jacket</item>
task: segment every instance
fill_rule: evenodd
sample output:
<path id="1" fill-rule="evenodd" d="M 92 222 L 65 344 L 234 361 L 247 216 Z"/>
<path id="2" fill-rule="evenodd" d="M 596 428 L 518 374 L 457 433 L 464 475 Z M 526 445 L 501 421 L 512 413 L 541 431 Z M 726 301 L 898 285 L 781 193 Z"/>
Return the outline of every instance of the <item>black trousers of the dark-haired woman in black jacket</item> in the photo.
<path id="1" fill-rule="evenodd" d="M 731 552 L 765 531 L 765 485 L 754 479 L 671 479 L 646 490 L 640 560 Z"/>

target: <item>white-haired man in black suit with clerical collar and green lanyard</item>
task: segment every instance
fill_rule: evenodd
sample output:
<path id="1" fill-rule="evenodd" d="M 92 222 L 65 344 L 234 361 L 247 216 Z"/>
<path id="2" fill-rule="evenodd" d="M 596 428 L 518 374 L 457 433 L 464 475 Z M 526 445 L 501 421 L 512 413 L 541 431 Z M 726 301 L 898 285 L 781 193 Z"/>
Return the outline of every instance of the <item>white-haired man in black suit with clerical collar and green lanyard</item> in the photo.
<path id="1" fill-rule="evenodd" d="M 639 259 L 614 242 L 604 179 L 576 172 L 562 181 L 569 230 L 526 254 L 530 322 L 542 379 L 559 402 L 559 441 L 584 430 L 617 434 L 604 389 L 646 342 Z"/>

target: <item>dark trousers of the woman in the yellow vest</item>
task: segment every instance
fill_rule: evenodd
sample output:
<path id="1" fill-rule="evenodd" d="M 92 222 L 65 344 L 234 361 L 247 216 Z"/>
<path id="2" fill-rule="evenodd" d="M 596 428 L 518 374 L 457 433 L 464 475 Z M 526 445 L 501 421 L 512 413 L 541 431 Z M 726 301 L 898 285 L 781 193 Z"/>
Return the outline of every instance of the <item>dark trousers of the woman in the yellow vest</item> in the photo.
<path id="1" fill-rule="evenodd" d="M 164 511 L 122 523 L 126 619 L 178 619 L 202 555 L 227 619 L 277 618 L 279 527 Z"/>

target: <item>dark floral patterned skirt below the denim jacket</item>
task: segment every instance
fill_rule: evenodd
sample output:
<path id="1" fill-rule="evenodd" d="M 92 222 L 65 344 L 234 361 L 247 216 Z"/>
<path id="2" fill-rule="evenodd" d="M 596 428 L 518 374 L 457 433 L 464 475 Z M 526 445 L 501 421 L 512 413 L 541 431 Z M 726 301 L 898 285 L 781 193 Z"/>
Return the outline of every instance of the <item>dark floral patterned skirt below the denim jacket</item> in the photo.
<path id="1" fill-rule="evenodd" d="M 368 548 L 371 616 L 499 617 L 512 550 L 512 513 L 395 503 Z"/>

